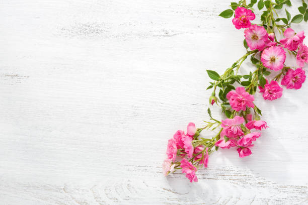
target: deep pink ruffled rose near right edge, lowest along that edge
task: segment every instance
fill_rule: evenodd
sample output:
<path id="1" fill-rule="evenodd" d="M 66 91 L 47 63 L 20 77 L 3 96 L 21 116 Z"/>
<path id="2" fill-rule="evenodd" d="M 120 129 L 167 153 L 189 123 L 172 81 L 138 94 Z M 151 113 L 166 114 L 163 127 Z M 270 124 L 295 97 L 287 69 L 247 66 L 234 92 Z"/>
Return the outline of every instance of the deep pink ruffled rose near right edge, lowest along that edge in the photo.
<path id="1" fill-rule="evenodd" d="M 305 79 L 305 71 L 302 68 L 297 68 L 296 70 L 289 69 L 282 78 L 281 84 L 286 85 L 289 89 L 299 89 Z"/>

